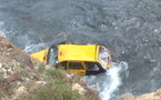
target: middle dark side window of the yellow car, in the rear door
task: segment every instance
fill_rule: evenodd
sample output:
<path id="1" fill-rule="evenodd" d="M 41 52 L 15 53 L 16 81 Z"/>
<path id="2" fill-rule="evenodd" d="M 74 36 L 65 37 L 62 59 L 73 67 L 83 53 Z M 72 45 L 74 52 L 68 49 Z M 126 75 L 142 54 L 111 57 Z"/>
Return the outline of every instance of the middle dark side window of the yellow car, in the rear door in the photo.
<path id="1" fill-rule="evenodd" d="M 84 70 L 81 62 L 69 62 L 69 69 L 73 70 Z"/>

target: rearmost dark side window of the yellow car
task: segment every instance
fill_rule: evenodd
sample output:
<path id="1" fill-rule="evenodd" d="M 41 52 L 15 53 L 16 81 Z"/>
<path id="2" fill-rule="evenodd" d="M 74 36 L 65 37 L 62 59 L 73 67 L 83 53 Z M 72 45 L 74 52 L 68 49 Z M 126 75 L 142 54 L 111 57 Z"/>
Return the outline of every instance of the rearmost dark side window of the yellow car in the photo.
<path id="1" fill-rule="evenodd" d="M 85 64 L 88 71 L 99 70 L 99 67 L 95 62 L 84 62 L 84 64 Z"/>

